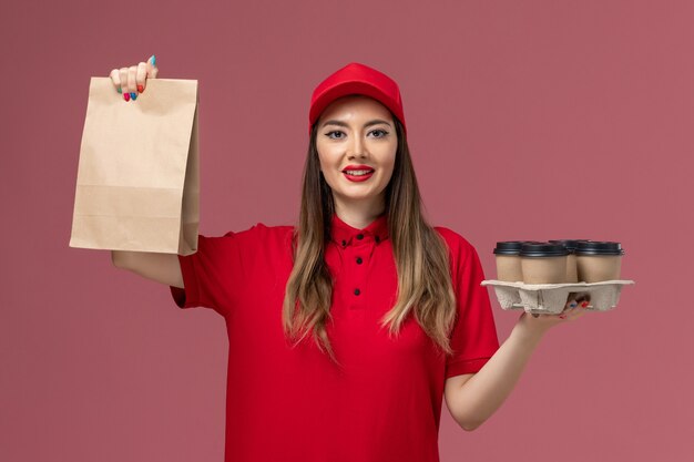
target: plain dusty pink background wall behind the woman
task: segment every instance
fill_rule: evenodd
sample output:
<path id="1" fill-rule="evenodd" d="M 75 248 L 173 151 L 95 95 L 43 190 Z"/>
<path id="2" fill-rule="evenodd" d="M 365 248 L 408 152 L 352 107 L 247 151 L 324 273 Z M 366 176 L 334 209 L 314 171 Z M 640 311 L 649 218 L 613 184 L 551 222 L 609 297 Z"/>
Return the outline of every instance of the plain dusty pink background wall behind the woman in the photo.
<path id="1" fill-rule="evenodd" d="M 222 319 L 68 247 L 90 76 L 152 53 L 200 81 L 203 234 L 292 223 L 310 91 L 361 61 L 488 278 L 497 240 L 622 243 L 620 306 L 550 331 L 477 431 L 443 407 L 442 461 L 694 460 L 693 2 L 42 3 L 0 14 L 0 460 L 222 461 Z"/>

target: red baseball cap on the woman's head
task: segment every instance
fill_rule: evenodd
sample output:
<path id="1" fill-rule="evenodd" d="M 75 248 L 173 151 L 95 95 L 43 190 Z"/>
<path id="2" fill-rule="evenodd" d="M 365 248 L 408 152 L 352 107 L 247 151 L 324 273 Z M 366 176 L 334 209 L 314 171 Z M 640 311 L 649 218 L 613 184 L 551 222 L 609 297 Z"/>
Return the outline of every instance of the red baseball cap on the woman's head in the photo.
<path id="1" fill-rule="evenodd" d="M 308 111 L 308 133 L 320 113 L 335 100 L 348 94 L 363 94 L 378 101 L 392 112 L 405 127 L 400 89 L 395 80 L 368 65 L 353 62 L 330 74 L 314 90 Z"/>

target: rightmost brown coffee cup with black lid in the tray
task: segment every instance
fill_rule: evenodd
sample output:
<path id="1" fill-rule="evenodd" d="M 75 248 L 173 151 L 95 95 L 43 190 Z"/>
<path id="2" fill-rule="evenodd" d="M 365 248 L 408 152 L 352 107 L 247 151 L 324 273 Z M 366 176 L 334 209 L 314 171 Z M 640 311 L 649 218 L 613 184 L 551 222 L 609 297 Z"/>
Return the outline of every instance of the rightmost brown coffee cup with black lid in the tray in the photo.
<path id="1" fill-rule="evenodd" d="M 608 240 L 579 243 L 575 255 L 579 280 L 591 284 L 620 279 L 624 255 L 620 243 Z"/>

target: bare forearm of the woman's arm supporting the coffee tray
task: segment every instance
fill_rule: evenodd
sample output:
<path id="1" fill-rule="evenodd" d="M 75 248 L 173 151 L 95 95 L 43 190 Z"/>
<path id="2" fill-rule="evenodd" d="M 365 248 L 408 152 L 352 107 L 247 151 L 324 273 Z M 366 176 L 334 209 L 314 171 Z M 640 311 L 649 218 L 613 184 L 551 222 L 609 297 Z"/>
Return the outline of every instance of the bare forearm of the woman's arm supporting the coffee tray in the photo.
<path id="1" fill-rule="evenodd" d="M 544 332 L 517 324 L 494 356 L 460 388 L 452 414 L 463 429 L 474 430 L 501 407 Z"/>

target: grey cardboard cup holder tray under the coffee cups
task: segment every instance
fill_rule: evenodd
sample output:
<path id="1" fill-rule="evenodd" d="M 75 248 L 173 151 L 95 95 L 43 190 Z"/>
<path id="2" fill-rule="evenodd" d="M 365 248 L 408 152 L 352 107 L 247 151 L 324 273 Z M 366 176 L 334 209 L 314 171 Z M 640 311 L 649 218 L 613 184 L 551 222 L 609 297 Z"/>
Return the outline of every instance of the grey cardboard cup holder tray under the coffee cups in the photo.
<path id="1" fill-rule="evenodd" d="M 601 283 L 523 284 L 502 280 L 483 280 L 482 286 L 494 288 L 503 309 L 524 309 L 530 314 L 555 315 L 575 299 L 589 301 L 586 309 L 608 311 L 620 301 L 622 287 L 636 284 L 633 280 L 604 280 Z"/>

